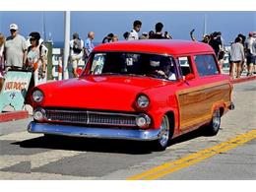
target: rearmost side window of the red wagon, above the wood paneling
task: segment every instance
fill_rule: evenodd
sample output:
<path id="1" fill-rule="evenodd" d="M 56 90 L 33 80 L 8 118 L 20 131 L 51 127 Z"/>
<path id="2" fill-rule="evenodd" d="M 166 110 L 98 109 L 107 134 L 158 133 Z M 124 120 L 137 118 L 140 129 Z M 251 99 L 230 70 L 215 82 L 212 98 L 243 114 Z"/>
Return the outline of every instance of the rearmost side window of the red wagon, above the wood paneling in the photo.
<path id="1" fill-rule="evenodd" d="M 199 76 L 219 74 L 214 55 L 196 55 L 194 58 Z"/>

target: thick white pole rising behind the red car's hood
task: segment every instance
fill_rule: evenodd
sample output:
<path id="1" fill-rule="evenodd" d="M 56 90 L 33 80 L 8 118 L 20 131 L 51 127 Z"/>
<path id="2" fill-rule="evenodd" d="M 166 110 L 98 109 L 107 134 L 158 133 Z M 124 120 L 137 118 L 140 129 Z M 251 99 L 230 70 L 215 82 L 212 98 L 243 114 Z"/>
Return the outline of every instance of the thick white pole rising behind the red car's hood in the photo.
<path id="1" fill-rule="evenodd" d="M 63 59 L 63 79 L 69 79 L 68 58 L 69 58 L 69 41 L 70 41 L 70 11 L 64 12 L 65 21 L 65 41 L 64 41 L 64 59 Z"/>

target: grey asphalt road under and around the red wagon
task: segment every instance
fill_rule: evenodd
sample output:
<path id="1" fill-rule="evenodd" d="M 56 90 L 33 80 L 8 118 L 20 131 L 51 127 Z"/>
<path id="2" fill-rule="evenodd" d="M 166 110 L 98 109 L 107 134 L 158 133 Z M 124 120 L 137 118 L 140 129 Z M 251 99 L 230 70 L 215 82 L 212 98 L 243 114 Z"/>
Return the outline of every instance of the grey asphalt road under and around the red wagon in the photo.
<path id="1" fill-rule="evenodd" d="M 45 138 L 27 133 L 31 119 L 1 123 L 0 179 L 256 179 L 256 81 L 235 85 L 233 100 L 217 136 L 195 131 L 164 152 L 139 142 Z"/>

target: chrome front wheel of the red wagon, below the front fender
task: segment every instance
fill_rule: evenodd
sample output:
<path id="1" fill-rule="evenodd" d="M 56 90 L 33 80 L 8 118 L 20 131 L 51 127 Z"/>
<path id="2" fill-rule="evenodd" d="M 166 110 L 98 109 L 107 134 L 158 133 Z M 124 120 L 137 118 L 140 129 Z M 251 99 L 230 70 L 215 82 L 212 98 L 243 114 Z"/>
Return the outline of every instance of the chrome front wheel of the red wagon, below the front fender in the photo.
<path id="1" fill-rule="evenodd" d="M 167 115 L 164 115 L 160 123 L 160 138 L 155 141 L 155 147 L 158 151 L 164 151 L 168 146 L 170 131 L 169 131 L 169 119 Z"/>

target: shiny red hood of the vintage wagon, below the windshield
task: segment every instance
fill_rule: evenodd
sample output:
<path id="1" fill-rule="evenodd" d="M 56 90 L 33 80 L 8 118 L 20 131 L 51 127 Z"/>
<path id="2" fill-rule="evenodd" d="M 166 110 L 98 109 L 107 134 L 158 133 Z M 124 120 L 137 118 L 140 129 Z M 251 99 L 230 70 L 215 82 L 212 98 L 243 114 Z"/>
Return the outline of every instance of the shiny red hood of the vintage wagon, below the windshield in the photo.
<path id="1" fill-rule="evenodd" d="M 44 93 L 44 106 L 131 111 L 139 93 L 166 84 L 145 77 L 88 76 L 37 88 Z"/>

